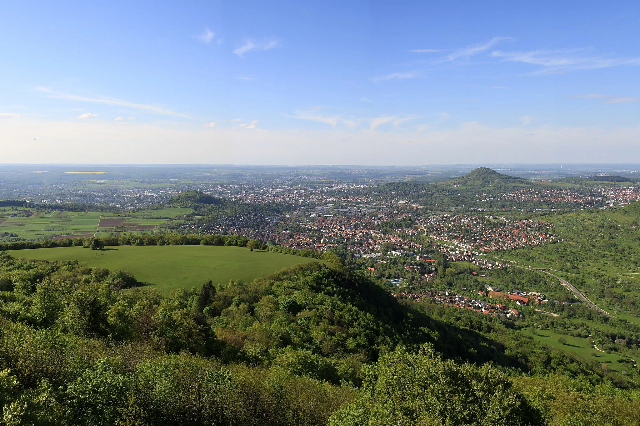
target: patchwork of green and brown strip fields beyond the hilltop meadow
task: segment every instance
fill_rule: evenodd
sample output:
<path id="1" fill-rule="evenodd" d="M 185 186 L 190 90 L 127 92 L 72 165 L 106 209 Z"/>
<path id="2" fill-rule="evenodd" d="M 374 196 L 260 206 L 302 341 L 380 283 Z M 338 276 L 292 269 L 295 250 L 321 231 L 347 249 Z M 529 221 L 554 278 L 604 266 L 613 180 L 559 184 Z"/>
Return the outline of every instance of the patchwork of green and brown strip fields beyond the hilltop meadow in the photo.
<path id="1" fill-rule="evenodd" d="M 28 240 L 58 240 L 60 238 L 84 238 L 92 236 L 116 236 L 127 234 L 148 234 L 170 220 L 159 217 L 173 217 L 174 210 L 157 210 L 154 215 L 128 217 L 118 213 L 97 211 L 35 211 L 31 216 L 22 217 L 22 209 L 12 211 L 0 209 L 0 235 Z M 182 213 L 184 214 L 184 213 Z"/>

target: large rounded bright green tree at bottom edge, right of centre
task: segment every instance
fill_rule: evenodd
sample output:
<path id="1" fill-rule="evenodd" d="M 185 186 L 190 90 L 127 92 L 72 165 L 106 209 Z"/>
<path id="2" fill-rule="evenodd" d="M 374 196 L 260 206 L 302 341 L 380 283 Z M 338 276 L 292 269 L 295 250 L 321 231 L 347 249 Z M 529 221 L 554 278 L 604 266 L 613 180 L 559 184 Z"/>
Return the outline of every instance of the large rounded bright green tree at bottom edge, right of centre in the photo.
<path id="1" fill-rule="evenodd" d="M 397 349 L 367 367 L 360 399 L 337 411 L 328 425 L 515 426 L 539 419 L 504 373 L 442 360 L 425 344 L 418 354 Z"/>

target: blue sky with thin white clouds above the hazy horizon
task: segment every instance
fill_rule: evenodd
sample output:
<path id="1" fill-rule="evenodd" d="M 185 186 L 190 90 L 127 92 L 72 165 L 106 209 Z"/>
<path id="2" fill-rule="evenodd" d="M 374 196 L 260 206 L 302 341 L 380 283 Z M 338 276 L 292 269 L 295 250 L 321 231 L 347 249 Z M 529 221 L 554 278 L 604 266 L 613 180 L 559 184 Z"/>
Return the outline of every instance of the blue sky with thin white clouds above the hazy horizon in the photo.
<path id="1" fill-rule="evenodd" d="M 58 3 L 0 3 L 0 162 L 640 162 L 637 2 Z"/>

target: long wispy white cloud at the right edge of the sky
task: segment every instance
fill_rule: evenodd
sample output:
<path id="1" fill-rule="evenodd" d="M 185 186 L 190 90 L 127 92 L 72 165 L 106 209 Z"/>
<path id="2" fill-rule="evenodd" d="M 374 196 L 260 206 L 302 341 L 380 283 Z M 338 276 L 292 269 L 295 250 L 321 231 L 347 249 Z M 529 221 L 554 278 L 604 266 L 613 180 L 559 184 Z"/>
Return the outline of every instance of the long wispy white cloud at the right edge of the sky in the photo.
<path id="1" fill-rule="evenodd" d="M 640 65 L 640 57 L 601 57 L 591 55 L 591 48 L 531 50 L 529 52 L 502 52 L 495 50 L 492 57 L 503 61 L 541 66 L 531 74 L 554 74 L 575 70 L 593 70 L 622 65 Z"/>

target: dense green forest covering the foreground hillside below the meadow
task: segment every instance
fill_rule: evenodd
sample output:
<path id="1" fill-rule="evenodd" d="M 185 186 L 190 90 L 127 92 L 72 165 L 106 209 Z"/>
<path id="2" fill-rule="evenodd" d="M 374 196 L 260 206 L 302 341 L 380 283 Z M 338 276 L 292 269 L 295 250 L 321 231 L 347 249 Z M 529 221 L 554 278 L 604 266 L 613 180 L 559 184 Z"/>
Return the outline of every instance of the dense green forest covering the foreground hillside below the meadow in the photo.
<path id="1" fill-rule="evenodd" d="M 4 252 L 3 422 L 637 424 L 637 391 L 596 366 L 497 318 L 401 303 L 335 260 L 163 297 Z"/>

